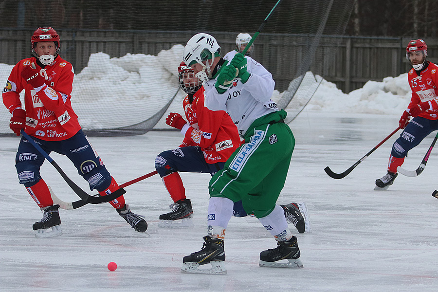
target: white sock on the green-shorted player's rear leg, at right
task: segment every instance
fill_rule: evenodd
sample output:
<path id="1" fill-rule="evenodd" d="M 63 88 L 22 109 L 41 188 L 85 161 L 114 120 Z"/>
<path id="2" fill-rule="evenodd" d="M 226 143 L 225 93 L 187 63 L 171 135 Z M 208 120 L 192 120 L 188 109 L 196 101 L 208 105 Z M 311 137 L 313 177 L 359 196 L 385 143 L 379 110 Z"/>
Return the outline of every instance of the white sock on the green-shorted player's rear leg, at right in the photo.
<path id="1" fill-rule="evenodd" d="M 288 241 L 292 238 L 292 233 L 284 217 L 284 210 L 279 205 L 275 205 L 274 210 L 268 216 L 258 220 L 275 237 L 275 240 Z"/>

